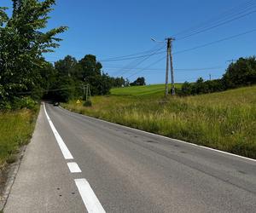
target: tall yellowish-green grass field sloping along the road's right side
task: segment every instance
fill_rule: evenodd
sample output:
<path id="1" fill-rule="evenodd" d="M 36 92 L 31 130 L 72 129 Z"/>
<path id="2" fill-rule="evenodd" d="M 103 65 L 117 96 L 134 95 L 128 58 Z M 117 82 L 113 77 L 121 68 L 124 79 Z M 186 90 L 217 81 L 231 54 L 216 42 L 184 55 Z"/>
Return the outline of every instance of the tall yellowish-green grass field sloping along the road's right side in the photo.
<path id="1" fill-rule="evenodd" d="M 157 86 L 155 86 L 157 88 Z M 256 86 L 209 95 L 169 97 L 150 89 L 113 89 L 92 107 L 63 107 L 140 130 L 256 158 Z M 149 90 L 149 91 L 148 91 Z M 156 90 L 156 89 L 155 89 Z"/>

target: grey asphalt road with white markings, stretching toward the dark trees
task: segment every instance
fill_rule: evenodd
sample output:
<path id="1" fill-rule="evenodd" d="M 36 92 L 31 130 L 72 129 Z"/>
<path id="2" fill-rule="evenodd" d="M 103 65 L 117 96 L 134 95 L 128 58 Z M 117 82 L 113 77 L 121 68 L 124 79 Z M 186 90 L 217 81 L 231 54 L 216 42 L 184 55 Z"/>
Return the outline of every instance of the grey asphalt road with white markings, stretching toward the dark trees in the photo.
<path id="1" fill-rule="evenodd" d="M 256 212 L 254 160 L 45 109 L 4 212 Z"/>

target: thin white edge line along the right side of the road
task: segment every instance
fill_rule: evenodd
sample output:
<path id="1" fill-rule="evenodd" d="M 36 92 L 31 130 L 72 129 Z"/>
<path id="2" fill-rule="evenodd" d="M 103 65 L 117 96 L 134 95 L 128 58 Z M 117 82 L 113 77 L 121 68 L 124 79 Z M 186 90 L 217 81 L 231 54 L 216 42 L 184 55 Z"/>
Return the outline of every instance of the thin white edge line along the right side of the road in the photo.
<path id="1" fill-rule="evenodd" d="M 72 111 L 69 111 L 63 107 L 61 107 L 62 109 L 68 111 L 68 112 L 72 112 Z M 164 135 L 157 135 L 157 134 L 154 134 L 152 132 L 147 132 L 147 131 L 144 131 L 144 130 L 137 130 L 137 129 L 134 129 L 134 128 L 131 128 L 129 126 L 125 126 L 125 125 L 121 125 L 121 124 L 115 124 L 115 123 L 112 123 L 112 122 L 109 122 L 109 121 L 106 121 L 106 120 L 102 120 L 102 119 L 99 119 L 99 118 L 93 118 L 91 116 L 88 116 L 88 115 L 84 115 L 84 114 L 80 114 L 78 112 L 73 112 L 73 113 L 76 113 L 78 115 L 82 115 L 84 116 L 85 118 L 91 118 L 91 119 L 94 119 L 94 120 L 97 120 L 97 121 L 101 121 L 101 122 L 105 122 L 105 123 L 108 123 L 108 124 L 113 124 L 113 125 L 116 125 L 116 126 L 119 126 L 119 127 L 122 127 L 122 128 L 126 128 L 126 129 L 129 129 L 129 130 L 134 130 L 134 131 L 137 131 L 137 132 L 141 132 L 141 133 L 145 133 L 145 134 L 148 134 L 148 135 L 154 135 L 154 136 L 158 136 L 158 137 L 161 137 L 161 138 L 164 138 L 168 141 L 177 141 L 177 142 L 181 142 L 181 143 L 184 143 L 184 144 L 187 144 L 189 146 L 194 146 L 194 147 L 201 147 L 203 149 L 208 149 L 208 150 L 211 150 L 213 152 L 217 152 L 217 153 L 223 153 L 223 154 L 227 154 L 227 155 L 230 155 L 230 156 L 233 156 L 233 157 L 236 157 L 236 158 L 243 158 L 243 159 L 246 159 L 246 160 L 249 160 L 249 161 L 253 161 L 253 162 L 256 162 L 256 159 L 253 159 L 253 158 L 247 158 L 247 157 L 244 157 L 244 156 L 241 156 L 241 155 L 237 155 L 237 154 L 233 154 L 233 153 L 227 153 L 227 152 L 224 152 L 224 151 L 221 151 L 221 150 L 218 150 L 218 149 L 214 149 L 214 148 L 210 148 L 210 147 L 205 147 L 205 146 L 201 146 L 201 145 L 197 145 L 195 143 L 189 143 L 187 141 L 181 141 L 181 140 L 177 140 L 175 138 L 170 138 L 170 137 L 166 137 Z"/>

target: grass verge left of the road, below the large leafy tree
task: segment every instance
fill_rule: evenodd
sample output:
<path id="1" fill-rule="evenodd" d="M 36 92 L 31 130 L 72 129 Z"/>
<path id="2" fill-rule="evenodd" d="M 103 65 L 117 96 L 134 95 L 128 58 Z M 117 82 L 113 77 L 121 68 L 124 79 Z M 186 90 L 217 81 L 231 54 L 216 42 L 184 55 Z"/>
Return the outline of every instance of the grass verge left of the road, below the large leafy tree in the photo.
<path id="1" fill-rule="evenodd" d="M 15 153 L 32 137 L 38 112 L 22 109 L 0 112 L 0 169 L 5 162 L 15 161 Z"/>

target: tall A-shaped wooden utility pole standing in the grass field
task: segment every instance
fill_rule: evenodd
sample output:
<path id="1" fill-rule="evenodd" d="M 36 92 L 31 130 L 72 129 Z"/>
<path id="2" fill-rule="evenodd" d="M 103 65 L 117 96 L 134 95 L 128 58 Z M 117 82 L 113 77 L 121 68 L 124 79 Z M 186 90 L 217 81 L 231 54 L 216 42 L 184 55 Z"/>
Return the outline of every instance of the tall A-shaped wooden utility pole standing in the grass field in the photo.
<path id="1" fill-rule="evenodd" d="M 166 55 L 166 93 L 168 95 L 169 88 L 168 88 L 168 73 L 169 73 L 169 58 L 170 58 L 170 65 L 171 65 L 171 81 L 172 81 L 172 95 L 175 95 L 175 86 L 174 86 L 174 70 L 172 65 L 172 41 L 175 39 L 173 37 L 167 37 L 167 55 Z"/>

